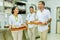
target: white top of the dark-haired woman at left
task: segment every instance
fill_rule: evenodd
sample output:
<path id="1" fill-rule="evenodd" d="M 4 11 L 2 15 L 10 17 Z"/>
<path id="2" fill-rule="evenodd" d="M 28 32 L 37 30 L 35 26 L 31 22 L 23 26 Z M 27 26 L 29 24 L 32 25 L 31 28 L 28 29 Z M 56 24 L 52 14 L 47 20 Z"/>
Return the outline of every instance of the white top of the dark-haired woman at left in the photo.
<path id="1" fill-rule="evenodd" d="M 21 24 L 23 24 L 22 16 L 20 14 L 18 14 L 17 20 L 18 21 L 16 21 L 14 15 L 10 15 L 10 17 L 9 17 L 9 25 L 14 25 L 16 27 L 20 27 Z"/>

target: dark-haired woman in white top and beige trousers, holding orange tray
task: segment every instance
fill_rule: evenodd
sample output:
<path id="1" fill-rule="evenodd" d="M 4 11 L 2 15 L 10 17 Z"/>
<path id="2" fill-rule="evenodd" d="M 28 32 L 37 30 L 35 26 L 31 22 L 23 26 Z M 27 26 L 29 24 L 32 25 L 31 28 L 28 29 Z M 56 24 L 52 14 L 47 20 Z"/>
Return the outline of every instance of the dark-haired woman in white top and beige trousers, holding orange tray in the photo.
<path id="1" fill-rule="evenodd" d="M 19 13 L 18 7 L 12 8 L 12 15 L 9 17 L 9 27 L 10 28 L 19 28 L 23 25 L 22 16 Z M 14 40 L 22 40 L 23 30 L 12 31 Z"/>

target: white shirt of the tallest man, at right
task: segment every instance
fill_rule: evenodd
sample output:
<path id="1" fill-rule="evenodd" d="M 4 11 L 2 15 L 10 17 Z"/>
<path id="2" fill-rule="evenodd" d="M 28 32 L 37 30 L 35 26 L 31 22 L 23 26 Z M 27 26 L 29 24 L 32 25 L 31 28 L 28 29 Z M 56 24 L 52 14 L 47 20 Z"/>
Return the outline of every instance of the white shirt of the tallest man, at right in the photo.
<path id="1" fill-rule="evenodd" d="M 51 18 L 50 11 L 44 9 L 42 12 L 40 10 L 37 11 L 36 19 L 39 22 L 47 22 Z M 38 31 L 43 32 L 48 29 L 48 25 L 38 25 Z"/>

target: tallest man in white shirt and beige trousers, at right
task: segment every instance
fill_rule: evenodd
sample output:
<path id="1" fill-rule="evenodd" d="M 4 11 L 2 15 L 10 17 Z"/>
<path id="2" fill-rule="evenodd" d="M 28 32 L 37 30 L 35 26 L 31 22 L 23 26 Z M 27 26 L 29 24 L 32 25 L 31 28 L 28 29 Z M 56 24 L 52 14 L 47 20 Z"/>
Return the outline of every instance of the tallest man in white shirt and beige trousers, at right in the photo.
<path id="1" fill-rule="evenodd" d="M 47 40 L 48 24 L 51 22 L 50 11 L 45 9 L 45 2 L 39 1 L 38 11 L 36 14 L 36 24 L 38 24 L 38 31 L 41 40 Z"/>

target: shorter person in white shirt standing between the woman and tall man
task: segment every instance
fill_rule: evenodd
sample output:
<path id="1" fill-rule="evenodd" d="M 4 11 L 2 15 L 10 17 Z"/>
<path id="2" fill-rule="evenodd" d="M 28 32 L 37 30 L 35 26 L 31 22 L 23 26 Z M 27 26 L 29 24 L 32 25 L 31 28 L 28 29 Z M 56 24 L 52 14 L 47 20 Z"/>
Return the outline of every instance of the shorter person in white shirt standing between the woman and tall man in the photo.
<path id="1" fill-rule="evenodd" d="M 32 6 L 30 6 L 29 10 L 30 13 L 27 15 L 26 18 L 26 23 L 28 25 L 28 36 L 30 40 L 35 40 L 35 25 L 34 25 L 35 12 Z"/>

